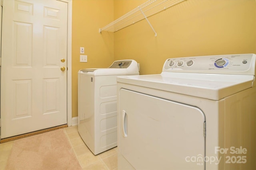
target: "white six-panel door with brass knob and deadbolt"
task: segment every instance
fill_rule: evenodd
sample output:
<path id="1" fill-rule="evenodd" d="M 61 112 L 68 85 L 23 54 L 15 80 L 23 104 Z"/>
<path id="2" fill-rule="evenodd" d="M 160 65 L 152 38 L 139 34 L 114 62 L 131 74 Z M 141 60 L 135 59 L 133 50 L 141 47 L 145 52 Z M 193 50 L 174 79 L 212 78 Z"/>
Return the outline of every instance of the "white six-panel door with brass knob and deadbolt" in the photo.
<path id="1" fill-rule="evenodd" d="M 1 138 L 67 123 L 68 4 L 4 0 Z"/>

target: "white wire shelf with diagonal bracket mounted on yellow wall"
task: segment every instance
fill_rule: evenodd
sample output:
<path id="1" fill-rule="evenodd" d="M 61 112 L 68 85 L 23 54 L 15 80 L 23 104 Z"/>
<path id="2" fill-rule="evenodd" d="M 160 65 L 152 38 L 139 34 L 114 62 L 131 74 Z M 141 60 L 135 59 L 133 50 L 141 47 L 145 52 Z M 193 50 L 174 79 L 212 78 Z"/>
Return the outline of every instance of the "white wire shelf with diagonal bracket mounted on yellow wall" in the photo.
<path id="1" fill-rule="evenodd" d="M 166 10 L 174 5 L 177 5 L 183 1 L 186 1 L 186 0 L 148 0 L 147 2 L 138 6 L 134 10 L 131 10 L 127 14 L 121 16 L 117 20 L 100 28 L 99 31 L 100 32 L 101 31 L 116 32 L 120 29 L 128 27 L 129 25 L 132 25 L 132 24 L 134 24 L 138 21 L 141 21 L 143 19 L 147 20 L 147 17 L 157 14 L 157 13 L 159 13 L 163 10 Z M 149 23 L 149 21 L 148 21 L 148 23 Z M 150 24 L 150 26 L 152 27 L 151 24 Z M 153 27 L 152 27 L 152 29 L 153 29 Z M 154 29 L 153 29 L 153 31 L 154 31 Z M 156 36 L 156 32 L 155 32 L 155 36 Z"/>

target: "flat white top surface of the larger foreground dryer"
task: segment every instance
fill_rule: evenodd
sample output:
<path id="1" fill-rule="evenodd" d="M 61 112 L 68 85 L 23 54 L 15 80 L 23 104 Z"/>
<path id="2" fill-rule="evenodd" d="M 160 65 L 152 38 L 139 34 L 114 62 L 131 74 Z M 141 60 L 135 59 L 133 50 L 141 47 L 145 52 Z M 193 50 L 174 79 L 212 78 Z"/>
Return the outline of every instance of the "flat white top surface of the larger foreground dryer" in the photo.
<path id="1" fill-rule="evenodd" d="M 162 72 L 161 74 L 122 76 L 117 82 L 168 92 L 220 100 L 252 87 L 254 76 L 236 74 L 202 74 Z"/>

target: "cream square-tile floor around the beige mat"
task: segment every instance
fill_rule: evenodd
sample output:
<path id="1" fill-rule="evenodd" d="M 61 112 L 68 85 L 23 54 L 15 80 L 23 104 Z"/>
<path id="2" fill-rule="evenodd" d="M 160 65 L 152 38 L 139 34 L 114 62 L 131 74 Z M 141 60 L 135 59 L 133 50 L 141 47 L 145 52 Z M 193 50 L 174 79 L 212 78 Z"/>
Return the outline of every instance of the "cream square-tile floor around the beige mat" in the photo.
<path id="1" fill-rule="evenodd" d="M 94 155 L 82 141 L 77 126 L 65 128 L 83 170 L 117 170 L 117 147 Z M 0 144 L 0 170 L 4 170 L 14 141 Z"/>

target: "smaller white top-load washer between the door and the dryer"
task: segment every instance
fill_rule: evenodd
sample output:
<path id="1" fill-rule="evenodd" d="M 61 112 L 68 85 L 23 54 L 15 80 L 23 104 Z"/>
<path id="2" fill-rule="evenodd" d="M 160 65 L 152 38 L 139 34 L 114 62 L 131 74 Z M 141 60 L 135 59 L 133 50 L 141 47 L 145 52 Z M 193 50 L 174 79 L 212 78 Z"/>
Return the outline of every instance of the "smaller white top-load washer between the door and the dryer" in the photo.
<path id="1" fill-rule="evenodd" d="M 116 77 L 138 74 L 134 60 L 78 71 L 78 132 L 95 155 L 117 146 Z"/>

